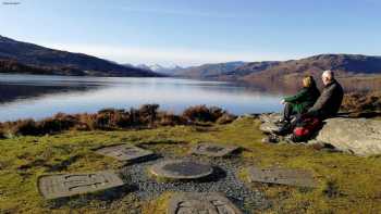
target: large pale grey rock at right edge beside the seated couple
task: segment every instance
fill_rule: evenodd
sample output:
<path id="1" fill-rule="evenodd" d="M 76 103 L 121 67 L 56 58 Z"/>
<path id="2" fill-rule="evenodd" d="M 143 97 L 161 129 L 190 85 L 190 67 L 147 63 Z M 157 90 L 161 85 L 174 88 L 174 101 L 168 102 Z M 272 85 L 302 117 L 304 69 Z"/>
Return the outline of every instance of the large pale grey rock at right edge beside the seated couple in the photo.
<path id="1" fill-rule="evenodd" d="M 381 154 L 381 121 L 330 118 L 317 140 L 358 155 Z"/>

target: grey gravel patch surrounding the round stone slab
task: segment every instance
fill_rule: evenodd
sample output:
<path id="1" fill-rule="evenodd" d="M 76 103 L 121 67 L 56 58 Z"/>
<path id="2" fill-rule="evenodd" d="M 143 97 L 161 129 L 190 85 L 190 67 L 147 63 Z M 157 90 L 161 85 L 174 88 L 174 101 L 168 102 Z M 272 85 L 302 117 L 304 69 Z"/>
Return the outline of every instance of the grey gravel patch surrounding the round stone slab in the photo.
<path id="1" fill-rule="evenodd" d="M 210 163 L 214 167 L 211 177 L 199 181 L 171 181 L 160 182 L 148 173 L 149 166 L 163 160 L 193 160 L 204 163 Z M 153 200 L 165 191 L 185 191 L 185 192 L 223 192 L 225 196 L 244 213 L 251 213 L 253 209 L 261 210 L 267 206 L 267 201 L 261 192 L 248 189 L 245 184 L 237 178 L 237 171 L 242 167 L 239 159 L 206 159 L 199 156 L 173 156 L 165 155 L 155 161 L 127 165 L 121 169 L 140 200 Z M 245 210 L 246 207 L 246 210 Z M 250 207 L 250 210 L 247 210 Z"/>

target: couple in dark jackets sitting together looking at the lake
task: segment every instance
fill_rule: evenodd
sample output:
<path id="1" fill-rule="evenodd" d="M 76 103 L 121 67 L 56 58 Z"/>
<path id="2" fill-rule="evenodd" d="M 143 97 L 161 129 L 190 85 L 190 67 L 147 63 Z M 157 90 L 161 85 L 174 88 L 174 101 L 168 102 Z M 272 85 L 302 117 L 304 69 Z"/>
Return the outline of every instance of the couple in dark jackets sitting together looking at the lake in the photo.
<path id="1" fill-rule="evenodd" d="M 303 89 L 296 96 L 282 100 L 285 104 L 282 126 L 275 134 L 291 134 L 297 124 L 306 118 L 317 118 L 322 122 L 336 115 L 344 97 L 343 88 L 334 78 L 332 71 L 324 71 L 321 79 L 324 85 L 321 95 L 314 77 L 307 76 L 303 79 Z M 295 119 L 292 119 L 292 116 L 295 116 Z"/>

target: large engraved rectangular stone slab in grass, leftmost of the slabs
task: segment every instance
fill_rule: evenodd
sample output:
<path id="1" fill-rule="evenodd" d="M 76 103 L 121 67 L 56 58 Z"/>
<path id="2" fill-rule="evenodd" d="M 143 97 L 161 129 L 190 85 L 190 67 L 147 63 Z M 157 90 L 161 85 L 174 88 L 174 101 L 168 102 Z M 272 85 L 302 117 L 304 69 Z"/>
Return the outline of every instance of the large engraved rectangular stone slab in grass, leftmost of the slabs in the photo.
<path id="1" fill-rule="evenodd" d="M 81 193 L 106 190 L 123 185 L 112 172 L 88 174 L 45 175 L 37 180 L 38 190 L 46 199 L 58 199 Z"/>

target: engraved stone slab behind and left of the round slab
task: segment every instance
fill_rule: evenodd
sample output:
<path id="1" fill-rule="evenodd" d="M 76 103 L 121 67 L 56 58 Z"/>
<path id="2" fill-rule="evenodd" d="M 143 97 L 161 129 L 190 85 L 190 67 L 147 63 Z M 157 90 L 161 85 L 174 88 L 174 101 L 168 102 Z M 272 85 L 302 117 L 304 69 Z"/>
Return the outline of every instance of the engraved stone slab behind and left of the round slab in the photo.
<path id="1" fill-rule="evenodd" d="M 153 152 L 130 144 L 116 144 L 96 150 L 96 153 L 114 158 L 119 161 L 136 161 L 153 155 Z"/>

